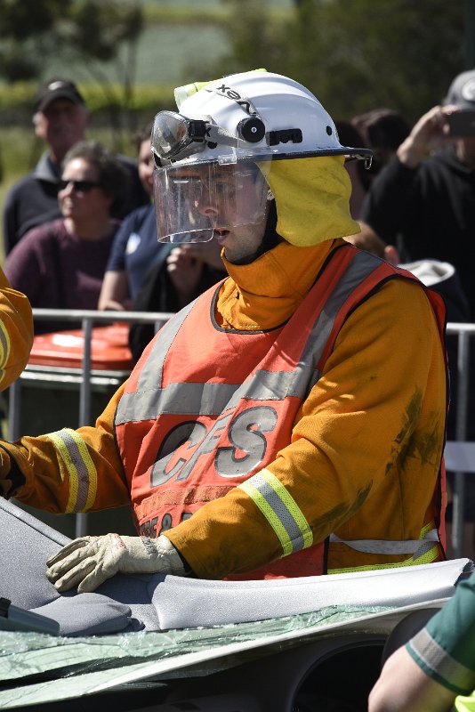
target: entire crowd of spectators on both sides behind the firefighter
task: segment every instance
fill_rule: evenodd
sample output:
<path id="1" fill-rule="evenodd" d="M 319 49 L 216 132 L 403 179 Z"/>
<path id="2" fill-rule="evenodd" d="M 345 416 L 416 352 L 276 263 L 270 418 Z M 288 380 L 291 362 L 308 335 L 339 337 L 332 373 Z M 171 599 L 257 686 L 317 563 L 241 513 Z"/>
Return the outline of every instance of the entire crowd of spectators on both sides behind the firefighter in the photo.
<path id="1" fill-rule="evenodd" d="M 475 321 L 469 259 L 475 122 L 472 130 L 458 133 L 451 120 L 471 111 L 475 71 L 455 77 L 447 96 L 412 127 L 386 108 L 337 122 L 343 145 L 374 154 L 366 170 L 362 162 L 346 164 L 353 187 L 350 210 L 361 227 L 350 241 L 439 291 L 447 319 L 454 322 Z M 46 150 L 4 201 L 5 275 L 33 307 L 176 312 L 226 275 L 220 247 L 214 240 L 178 247 L 158 243 L 151 125 L 136 136 L 133 162 L 87 141 L 89 119 L 73 82 L 53 77 L 39 87 L 33 124 Z M 36 333 L 69 327 L 69 322 L 43 322 Z M 151 336 L 152 327 L 132 329 L 134 360 Z M 454 401 L 457 351 L 447 344 Z M 474 364 L 472 359 L 472 384 Z M 473 439 L 471 409 L 467 436 Z M 454 416 L 452 408 L 449 437 L 455 437 Z M 473 488 L 467 490 L 465 517 L 475 520 Z"/>

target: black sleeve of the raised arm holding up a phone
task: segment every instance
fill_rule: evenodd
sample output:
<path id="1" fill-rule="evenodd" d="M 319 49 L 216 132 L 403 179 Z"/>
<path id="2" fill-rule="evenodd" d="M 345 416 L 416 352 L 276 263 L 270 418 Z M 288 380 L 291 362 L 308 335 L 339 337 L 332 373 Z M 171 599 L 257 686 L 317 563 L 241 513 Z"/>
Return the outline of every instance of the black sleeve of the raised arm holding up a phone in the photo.
<path id="1" fill-rule="evenodd" d="M 370 225 L 387 244 L 394 244 L 404 227 L 417 175 L 417 168 L 404 166 L 398 158 L 393 158 L 366 193 L 360 220 Z"/>

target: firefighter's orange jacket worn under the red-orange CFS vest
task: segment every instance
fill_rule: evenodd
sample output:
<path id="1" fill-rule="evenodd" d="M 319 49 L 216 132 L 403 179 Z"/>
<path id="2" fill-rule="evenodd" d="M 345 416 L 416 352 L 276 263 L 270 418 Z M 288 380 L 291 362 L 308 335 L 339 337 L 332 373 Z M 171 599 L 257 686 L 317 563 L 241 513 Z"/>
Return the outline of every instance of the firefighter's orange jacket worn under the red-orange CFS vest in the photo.
<path id="1" fill-rule="evenodd" d="M 342 244 L 329 240 L 302 248 L 283 242 L 254 263 L 227 263 L 230 276 L 217 299 L 216 323 L 229 332 L 278 328 L 318 284 Z M 262 511 L 262 490 L 246 487 L 261 473 L 297 514 L 307 544 L 306 525 L 310 546 L 330 539 L 329 571 L 415 562 L 416 552 L 401 554 L 401 542 L 420 542 L 422 561 L 439 557 L 431 536 L 439 523 L 447 380 L 432 302 L 413 279 L 391 278 L 379 280 L 348 310 L 335 327 L 318 380 L 295 413 L 288 444 L 260 473 L 166 531 L 198 577 L 245 573 L 287 553 L 283 531 Z M 189 348 L 201 338 L 194 335 Z M 125 387 L 117 391 L 95 427 L 2 442 L 0 484 L 6 496 L 50 512 L 130 501 L 125 470 L 134 465 L 127 452 L 122 461 L 114 425 L 124 392 Z M 131 430 L 131 438 L 141 436 L 140 427 Z M 131 442 L 129 452 L 134 448 Z M 382 541 L 390 553 L 371 550 Z"/>

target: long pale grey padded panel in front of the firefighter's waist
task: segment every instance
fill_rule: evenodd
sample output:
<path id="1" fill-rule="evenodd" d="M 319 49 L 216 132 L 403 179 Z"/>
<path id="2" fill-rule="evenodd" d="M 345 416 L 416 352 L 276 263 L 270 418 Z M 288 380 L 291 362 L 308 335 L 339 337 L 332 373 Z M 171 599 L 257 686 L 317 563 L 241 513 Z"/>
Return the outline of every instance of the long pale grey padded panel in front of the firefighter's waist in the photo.
<path id="1" fill-rule="evenodd" d="M 399 569 L 265 581 L 167 576 L 152 603 L 160 628 L 210 627 L 293 616 L 326 606 L 406 606 L 448 598 L 470 559 Z"/>

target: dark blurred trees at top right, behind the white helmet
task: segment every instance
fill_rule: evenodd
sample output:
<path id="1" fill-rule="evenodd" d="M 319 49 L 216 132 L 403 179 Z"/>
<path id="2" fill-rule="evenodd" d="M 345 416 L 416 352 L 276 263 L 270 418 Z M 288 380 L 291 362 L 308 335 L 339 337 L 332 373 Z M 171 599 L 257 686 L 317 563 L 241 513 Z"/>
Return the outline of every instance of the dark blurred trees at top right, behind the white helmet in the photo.
<path id="1" fill-rule="evenodd" d="M 463 66 L 463 3 L 299 0 L 285 18 L 262 0 L 229 7 L 229 54 L 212 76 L 265 67 L 314 92 L 334 117 L 385 106 L 415 121 Z"/>

